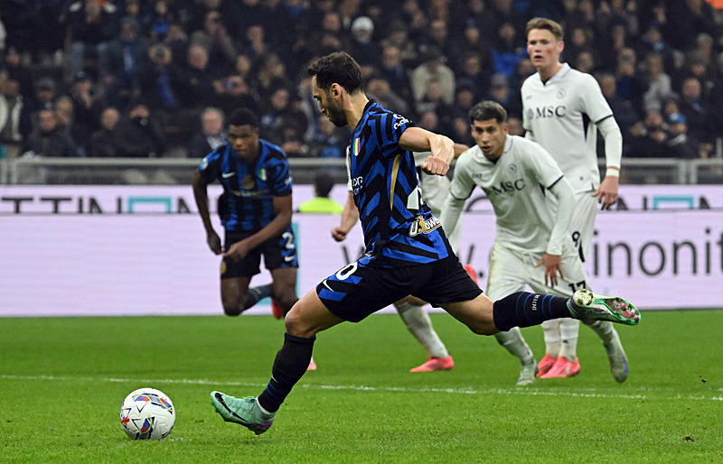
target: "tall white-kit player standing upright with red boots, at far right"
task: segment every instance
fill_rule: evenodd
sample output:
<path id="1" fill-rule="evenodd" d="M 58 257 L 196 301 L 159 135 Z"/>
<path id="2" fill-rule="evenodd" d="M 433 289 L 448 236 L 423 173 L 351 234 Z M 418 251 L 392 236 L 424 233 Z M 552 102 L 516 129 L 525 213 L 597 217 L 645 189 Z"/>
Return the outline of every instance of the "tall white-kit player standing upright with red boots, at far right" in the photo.
<path id="1" fill-rule="evenodd" d="M 527 51 L 538 72 L 521 88 L 525 136 L 552 155 L 575 192 L 570 233 L 585 262 L 595 228 L 596 203 L 607 209 L 617 201 L 623 135 L 596 80 L 559 61 L 565 48 L 559 23 L 533 18 L 526 31 Z M 606 175 L 602 182 L 596 155 L 598 129 L 605 139 Z M 579 322 L 549 320 L 542 329 L 546 353 L 538 365 L 538 376 L 577 375 Z M 615 378 L 624 381 L 623 377 Z"/>

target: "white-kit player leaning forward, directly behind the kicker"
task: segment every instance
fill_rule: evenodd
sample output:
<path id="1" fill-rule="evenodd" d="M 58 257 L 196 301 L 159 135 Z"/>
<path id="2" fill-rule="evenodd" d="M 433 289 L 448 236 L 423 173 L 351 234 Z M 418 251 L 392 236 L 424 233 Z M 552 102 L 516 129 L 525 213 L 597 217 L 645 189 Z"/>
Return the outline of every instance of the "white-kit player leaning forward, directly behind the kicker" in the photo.
<path id="1" fill-rule="evenodd" d="M 456 162 L 441 221 L 453 232 L 474 187 L 484 190 L 497 218 L 487 296 L 495 299 L 526 285 L 556 296 L 587 288 L 587 272 L 568 235 L 575 194 L 567 176 L 540 144 L 508 135 L 507 114 L 499 104 L 477 104 L 470 120 L 477 144 Z M 624 380 L 627 359 L 617 332 L 609 322 L 591 326 L 605 335 L 613 375 Z M 520 329 L 495 337 L 521 361 L 518 385 L 533 384 L 536 363 Z"/>

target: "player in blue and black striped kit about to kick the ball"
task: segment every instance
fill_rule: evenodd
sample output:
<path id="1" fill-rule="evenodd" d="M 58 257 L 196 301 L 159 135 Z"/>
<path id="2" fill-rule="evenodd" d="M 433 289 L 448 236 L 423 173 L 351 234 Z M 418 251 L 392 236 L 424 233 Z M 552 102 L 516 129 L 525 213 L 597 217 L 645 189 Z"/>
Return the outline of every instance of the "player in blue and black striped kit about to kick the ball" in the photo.
<path id="1" fill-rule="evenodd" d="M 263 393 L 246 398 L 211 393 L 211 404 L 225 421 L 266 432 L 304 375 L 316 333 L 344 320 L 360 321 L 408 294 L 442 307 L 484 335 L 563 317 L 640 321 L 632 303 L 587 290 L 572 298 L 516 292 L 493 302 L 465 272 L 418 189 L 411 152 L 431 152 L 422 171 L 445 175 L 455 156 L 452 140 L 370 101 L 359 65 L 343 51 L 317 60 L 309 74 L 322 115 L 334 125 L 353 127 L 349 174 L 366 250 L 288 312 L 284 345 Z"/>

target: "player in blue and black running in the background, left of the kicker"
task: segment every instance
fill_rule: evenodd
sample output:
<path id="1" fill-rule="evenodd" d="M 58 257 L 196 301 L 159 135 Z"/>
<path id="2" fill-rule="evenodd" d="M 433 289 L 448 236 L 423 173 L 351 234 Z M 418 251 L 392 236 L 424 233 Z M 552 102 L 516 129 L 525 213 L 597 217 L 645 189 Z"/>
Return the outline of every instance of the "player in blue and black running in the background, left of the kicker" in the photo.
<path id="1" fill-rule="evenodd" d="M 291 228 L 292 182 L 286 154 L 258 137 L 258 119 L 240 108 L 229 116 L 226 144 L 206 155 L 193 175 L 193 196 L 211 251 L 223 253 L 221 303 L 229 316 L 239 315 L 271 296 L 277 318 L 296 303 L 296 240 Z M 207 186 L 219 181 L 219 215 L 225 237 L 211 225 Z M 261 255 L 272 283 L 250 288 Z"/>

